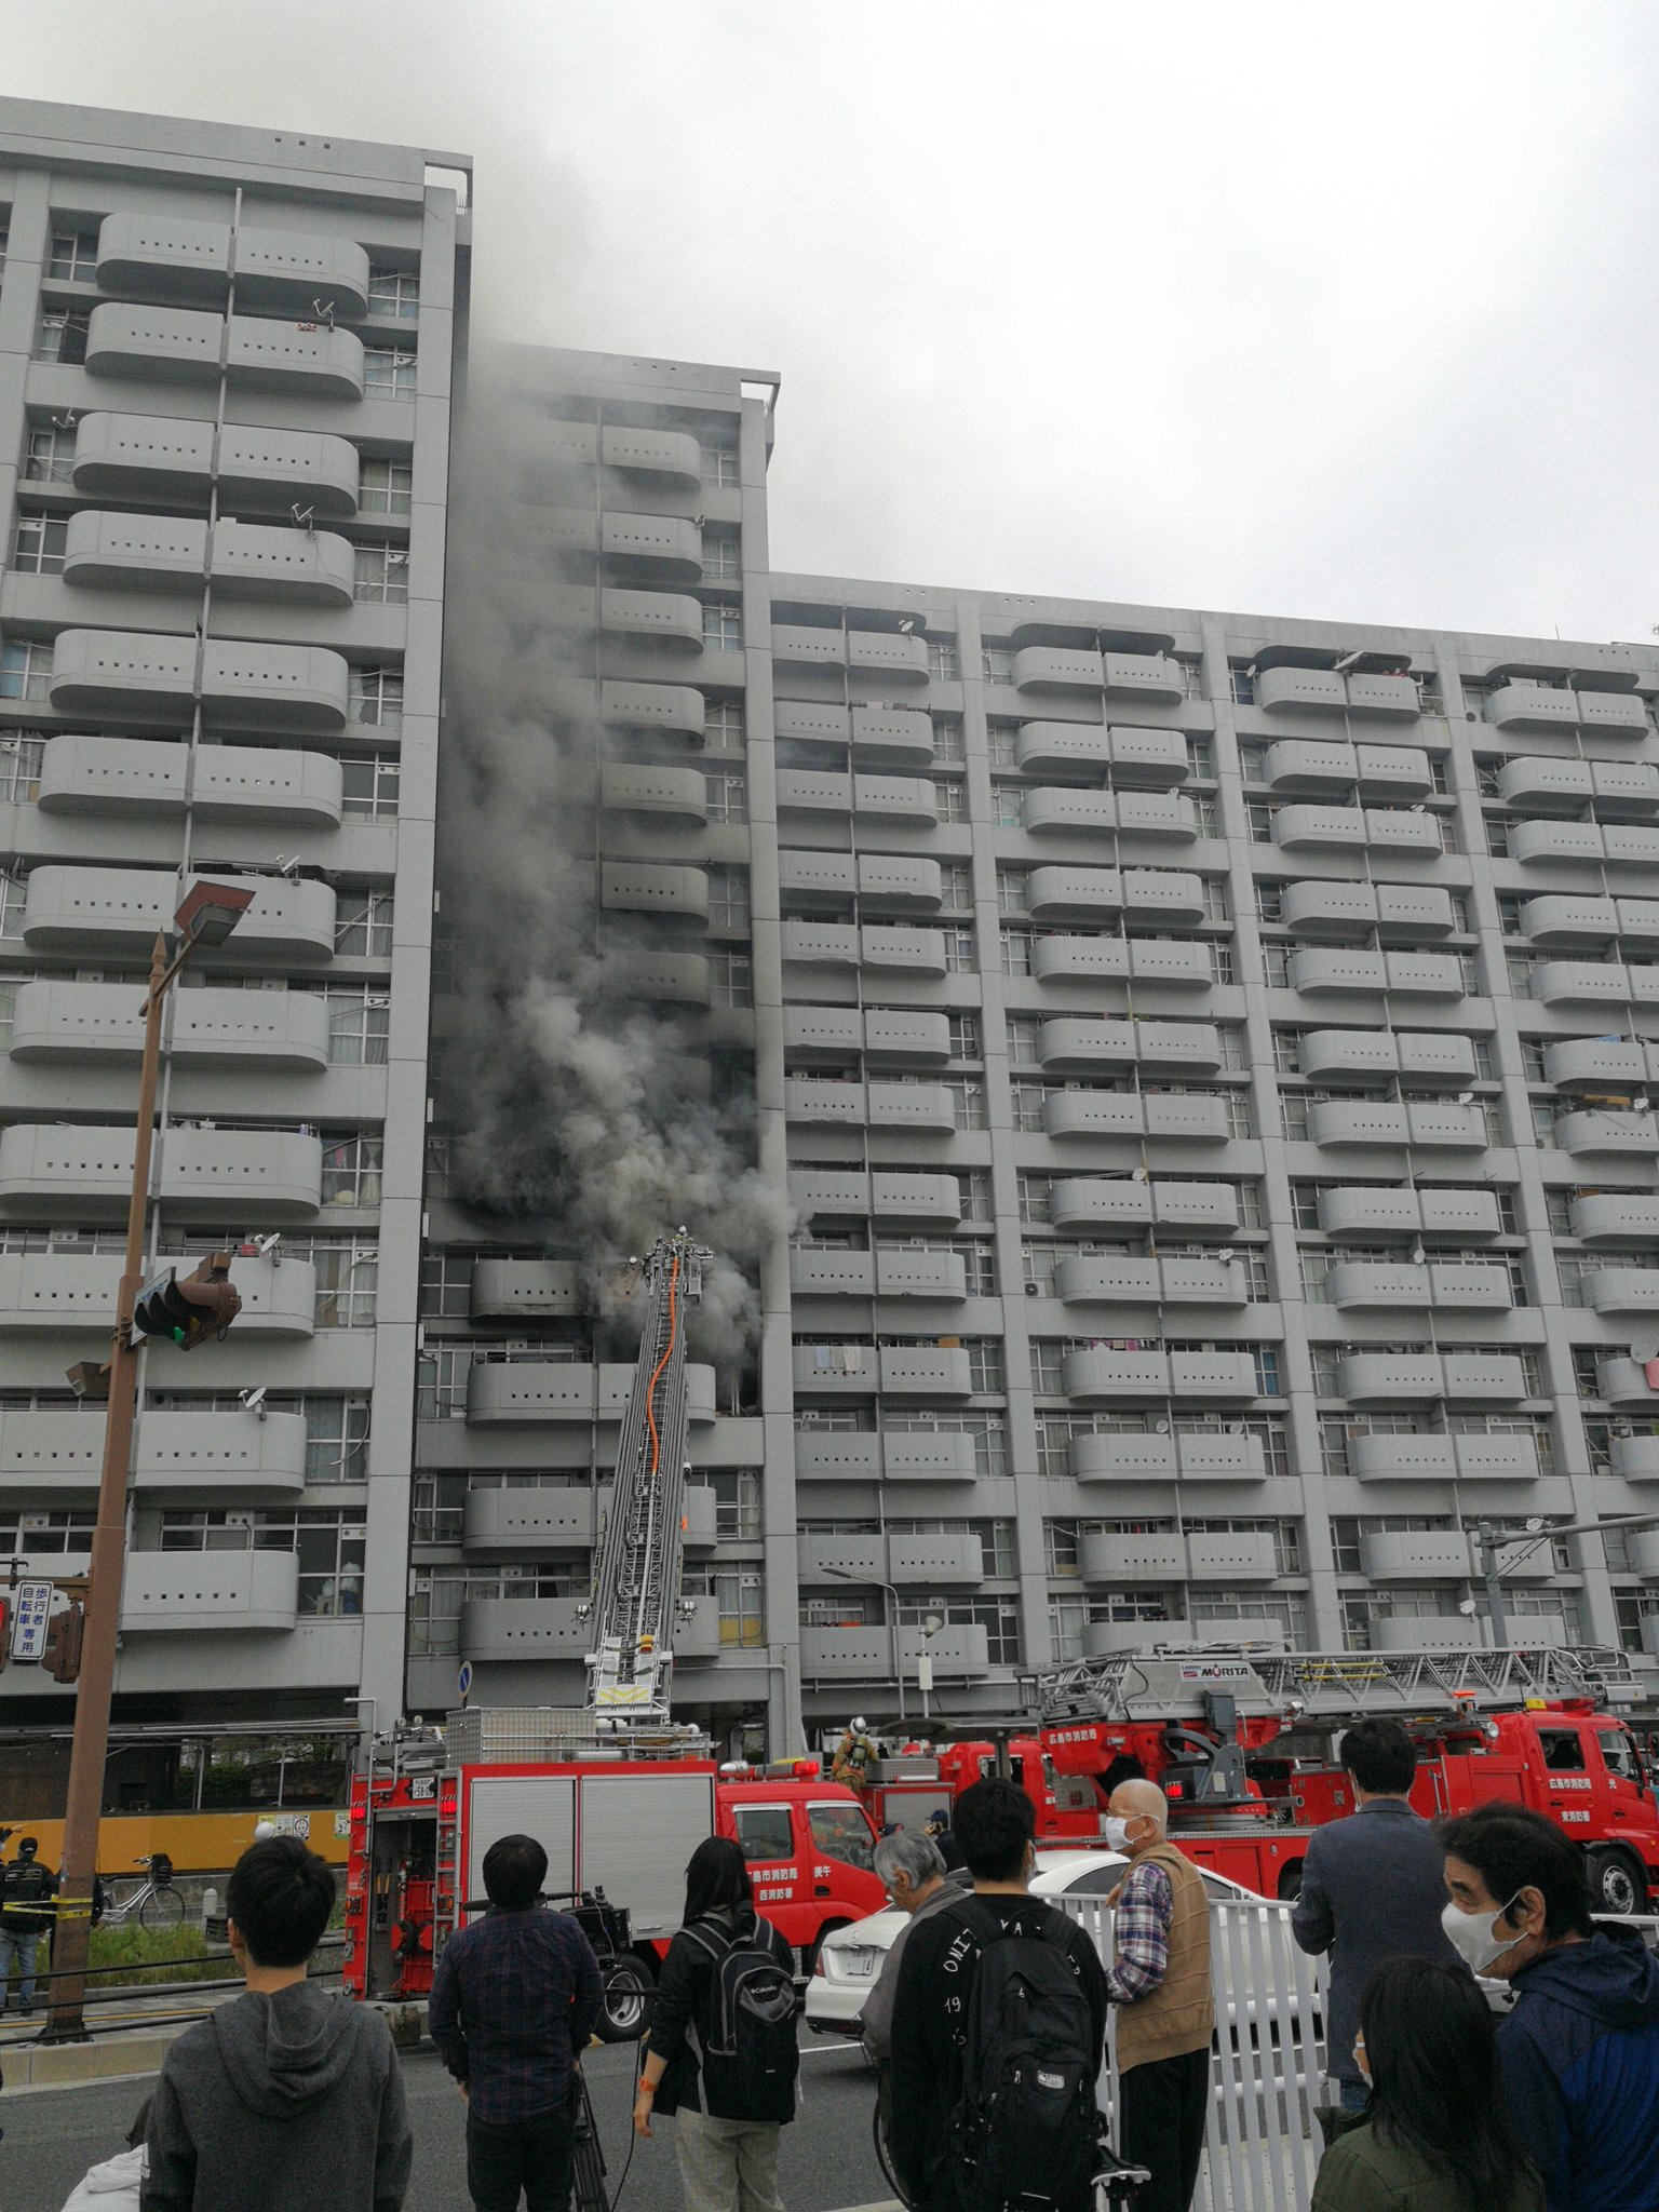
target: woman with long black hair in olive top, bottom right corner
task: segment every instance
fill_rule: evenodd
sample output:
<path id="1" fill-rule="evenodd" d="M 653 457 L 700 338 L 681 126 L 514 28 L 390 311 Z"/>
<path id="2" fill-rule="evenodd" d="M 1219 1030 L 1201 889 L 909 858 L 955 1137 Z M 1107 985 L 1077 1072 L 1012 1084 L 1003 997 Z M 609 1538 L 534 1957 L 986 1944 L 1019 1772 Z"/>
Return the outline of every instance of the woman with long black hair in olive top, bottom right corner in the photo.
<path id="1" fill-rule="evenodd" d="M 1462 1966 L 1389 1958 L 1360 1995 L 1363 2112 L 1323 2115 L 1334 2141 L 1314 2212 L 1544 2212 L 1509 2126 L 1493 2017 Z"/>

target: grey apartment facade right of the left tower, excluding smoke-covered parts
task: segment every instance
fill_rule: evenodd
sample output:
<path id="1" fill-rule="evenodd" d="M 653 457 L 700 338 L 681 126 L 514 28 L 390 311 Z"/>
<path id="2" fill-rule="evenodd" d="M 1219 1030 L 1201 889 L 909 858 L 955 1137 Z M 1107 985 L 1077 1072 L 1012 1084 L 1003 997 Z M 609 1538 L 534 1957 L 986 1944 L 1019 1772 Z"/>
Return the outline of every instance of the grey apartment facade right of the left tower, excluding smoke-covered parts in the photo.
<path id="1" fill-rule="evenodd" d="M 896 1672 L 916 1721 L 922 1650 L 971 1721 L 1148 1637 L 1475 1644 L 1475 1520 L 1659 1504 L 1659 655 L 772 573 L 741 372 L 538 374 L 619 462 L 611 757 L 684 781 L 595 812 L 602 905 L 677 905 L 661 993 L 794 1208 L 699 1385 L 688 1710 L 783 1747 Z M 617 1409 L 568 1270 L 451 1230 L 411 1694 L 562 1701 Z M 1655 1571 L 1515 1546 L 1509 1635 L 1646 1666 Z"/>

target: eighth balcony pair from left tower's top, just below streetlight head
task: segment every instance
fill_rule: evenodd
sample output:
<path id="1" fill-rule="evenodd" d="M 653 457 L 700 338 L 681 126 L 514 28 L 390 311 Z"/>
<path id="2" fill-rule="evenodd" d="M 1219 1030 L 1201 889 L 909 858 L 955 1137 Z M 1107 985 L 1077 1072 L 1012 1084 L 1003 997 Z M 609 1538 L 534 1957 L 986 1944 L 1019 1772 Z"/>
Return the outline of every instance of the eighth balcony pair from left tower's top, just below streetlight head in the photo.
<path id="1" fill-rule="evenodd" d="M 11 1057 L 137 1062 L 144 1015 L 137 984 L 24 982 L 11 1022 Z M 181 1064 L 310 1075 L 327 1066 L 327 1000 L 310 991 L 179 991 L 170 1055 Z"/>

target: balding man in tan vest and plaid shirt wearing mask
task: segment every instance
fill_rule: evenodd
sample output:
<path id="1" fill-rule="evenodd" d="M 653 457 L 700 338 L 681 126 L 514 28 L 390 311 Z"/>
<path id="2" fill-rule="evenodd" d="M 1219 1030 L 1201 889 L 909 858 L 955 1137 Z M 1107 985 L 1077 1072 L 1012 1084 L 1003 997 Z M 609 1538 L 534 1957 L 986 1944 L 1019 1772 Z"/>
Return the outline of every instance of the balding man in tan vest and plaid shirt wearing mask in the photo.
<path id="1" fill-rule="evenodd" d="M 1106 1993 L 1117 2013 L 1119 2154 L 1150 2181 L 1141 2212 L 1188 2212 L 1210 2108 L 1210 1900 L 1166 1836 L 1157 1783 L 1128 1781 L 1106 1807 L 1106 1843 L 1133 1860 L 1117 1889 Z"/>

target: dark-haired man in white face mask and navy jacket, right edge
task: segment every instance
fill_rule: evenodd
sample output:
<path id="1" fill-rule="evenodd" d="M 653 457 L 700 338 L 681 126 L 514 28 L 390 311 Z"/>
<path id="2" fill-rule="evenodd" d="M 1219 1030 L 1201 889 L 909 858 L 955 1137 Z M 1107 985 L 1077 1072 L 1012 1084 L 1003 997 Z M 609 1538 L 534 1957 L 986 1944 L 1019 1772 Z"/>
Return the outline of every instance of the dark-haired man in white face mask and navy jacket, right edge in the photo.
<path id="1" fill-rule="evenodd" d="M 1447 1936 L 1515 1989 L 1498 2066 L 1548 2212 L 1659 2212 L 1659 1964 L 1590 1920 L 1584 1856 L 1542 1814 L 1480 1805 L 1440 1843 Z"/>

